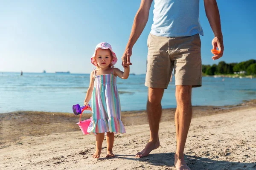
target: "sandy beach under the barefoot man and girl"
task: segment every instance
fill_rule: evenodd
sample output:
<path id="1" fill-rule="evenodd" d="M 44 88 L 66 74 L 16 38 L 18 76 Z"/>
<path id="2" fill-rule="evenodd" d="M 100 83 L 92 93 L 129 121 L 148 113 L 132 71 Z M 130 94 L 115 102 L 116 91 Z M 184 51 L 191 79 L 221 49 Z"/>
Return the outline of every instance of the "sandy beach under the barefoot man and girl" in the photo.
<path id="1" fill-rule="evenodd" d="M 95 136 L 81 133 L 79 116 L 70 113 L 14 112 L 0 114 L 2 170 L 175 170 L 175 108 L 164 109 L 160 147 L 135 158 L 149 139 L 145 111 L 122 112 L 126 133 L 117 134 L 115 158 L 107 159 L 106 141 L 100 159 L 93 159 Z M 83 119 L 90 117 L 84 114 Z M 256 169 L 256 100 L 240 105 L 193 107 L 185 147 L 191 170 Z"/>

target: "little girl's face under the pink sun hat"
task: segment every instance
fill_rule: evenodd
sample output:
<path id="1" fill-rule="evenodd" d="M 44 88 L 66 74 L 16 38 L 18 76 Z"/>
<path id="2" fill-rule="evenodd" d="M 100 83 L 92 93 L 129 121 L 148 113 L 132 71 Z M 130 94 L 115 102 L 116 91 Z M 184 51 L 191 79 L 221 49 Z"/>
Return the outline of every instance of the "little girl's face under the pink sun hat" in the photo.
<path id="1" fill-rule="evenodd" d="M 111 51 L 109 49 L 98 48 L 95 54 L 97 65 L 100 68 L 106 68 L 111 63 Z"/>

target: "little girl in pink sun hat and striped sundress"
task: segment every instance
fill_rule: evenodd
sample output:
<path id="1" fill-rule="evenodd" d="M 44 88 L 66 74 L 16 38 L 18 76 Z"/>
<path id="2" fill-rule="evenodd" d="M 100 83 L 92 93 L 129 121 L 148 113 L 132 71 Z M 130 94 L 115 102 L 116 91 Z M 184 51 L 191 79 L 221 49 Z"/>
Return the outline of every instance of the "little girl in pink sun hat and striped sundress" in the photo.
<path id="1" fill-rule="evenodd" d="M 126 57 L 122 57 L 126 61 Z M 91 63 L 97 67 L 90 74 L 90 85 L 84 99 L 84 105 L 92 98 L 92 121 L 88 127 L 88 133 L 96 134 L 96 151 L 93 158 L 99 158 L 102 150 L 102 142 L 107 136 L 107 156 L 115 156 L 112 152 L 114 133 L 125 133 L 125 127 L 121 121 L 121 106 L 116 87 L 116 76 L 121 79 L 129 77 L 130 68 L 124 72 L 113 68 L 117 62 L 116 54 L 107 42 L 99 43 L 91 57 Z"/>

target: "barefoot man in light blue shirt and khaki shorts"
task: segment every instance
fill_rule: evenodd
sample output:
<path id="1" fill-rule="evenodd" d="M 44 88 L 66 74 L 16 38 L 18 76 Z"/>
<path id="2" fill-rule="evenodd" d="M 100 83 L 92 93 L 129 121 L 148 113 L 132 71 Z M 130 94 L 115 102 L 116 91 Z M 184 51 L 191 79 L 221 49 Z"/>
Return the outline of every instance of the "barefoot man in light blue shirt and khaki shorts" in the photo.
<path id="1" fill-rule="evenodd" d="M 122 65 L 131 65 L 130 57 L 135 42 L 148 21 L 153 0 L 141 0 L 134 18 Z M 184 147 L 192 118 L 192 87 L 200 87 L 202 79 L 201 40 L 203 30 L 199 23 L 199 0 L 155 0 L 154 23 L 148 35 L 148 57 L 145 85 L 148 87 L 147 113 L 150 139 L 136 157 L 148 154 L 160 146 L 158 130 L 162 114 L 161 99 L 167 88 L 172 70 L 175 73 L 177 109 L 175 113 L 177 147 L 175 166 L 177 170 L 190 170 L 184 160 Z M 220 53 L 213 60 L 222 57 L 224 46 L 221 22 L 216 0 L 204 0 L 207 18 L 215 37 L 213 49 Z M 127 61 L 127 62 L 126 62 Z"/>

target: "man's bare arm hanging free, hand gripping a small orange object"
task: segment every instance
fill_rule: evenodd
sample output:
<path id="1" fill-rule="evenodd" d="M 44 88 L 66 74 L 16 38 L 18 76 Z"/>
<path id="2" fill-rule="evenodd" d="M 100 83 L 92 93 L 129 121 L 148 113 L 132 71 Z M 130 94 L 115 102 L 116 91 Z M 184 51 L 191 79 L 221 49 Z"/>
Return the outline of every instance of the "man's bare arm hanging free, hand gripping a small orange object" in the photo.
<path id="1" fill-rule="evenodd" d="M 204 8 L 215 36 L 212 40 L 212 48 L 216 49 L 216 47 L 218 47 L 218 50 L 220 51 L 220 53 L 213 56 L 212 59 L 219 59 L 223 55 L 224 45 L 221 32 L 221 19 L 216 0 L 204 0 Z"/>

